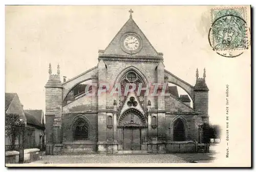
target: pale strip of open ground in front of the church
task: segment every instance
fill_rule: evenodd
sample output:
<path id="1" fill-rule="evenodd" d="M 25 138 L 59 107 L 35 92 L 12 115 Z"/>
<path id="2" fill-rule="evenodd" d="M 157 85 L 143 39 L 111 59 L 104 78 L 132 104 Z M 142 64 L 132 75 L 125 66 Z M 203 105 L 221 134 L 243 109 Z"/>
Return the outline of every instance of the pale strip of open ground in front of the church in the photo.
<path id="1" fill-rule="evenodd" d="M 144 154 L 144 155 L 47 155 L 32 163 L 209 163 L 218 154 L 218 145 L 210 146 L 205 154 Z"/>

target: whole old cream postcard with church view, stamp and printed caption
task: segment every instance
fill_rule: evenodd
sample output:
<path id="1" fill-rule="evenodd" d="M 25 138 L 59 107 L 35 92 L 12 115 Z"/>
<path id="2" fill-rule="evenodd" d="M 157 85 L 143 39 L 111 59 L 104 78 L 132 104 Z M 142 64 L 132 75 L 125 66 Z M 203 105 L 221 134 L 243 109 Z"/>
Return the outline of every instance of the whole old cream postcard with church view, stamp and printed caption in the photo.
<path id="1" fill-rule="evenodd" d="M 5 161 L 250 167 L 250 6 L 6 6 Z"/>

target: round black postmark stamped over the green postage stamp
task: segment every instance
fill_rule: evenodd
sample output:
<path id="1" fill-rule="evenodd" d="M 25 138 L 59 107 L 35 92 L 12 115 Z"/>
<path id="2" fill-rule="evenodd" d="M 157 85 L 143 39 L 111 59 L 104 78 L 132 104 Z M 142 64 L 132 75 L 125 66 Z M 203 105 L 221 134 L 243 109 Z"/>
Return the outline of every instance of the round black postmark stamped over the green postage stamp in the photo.
<path id="1" fill-rule="evenodd" d="M 224 57 L 240 56 L 250 46 L 247 23 L 233 11 L 222 10 L 212 22 L 208 34 L 212 50 Z"/>

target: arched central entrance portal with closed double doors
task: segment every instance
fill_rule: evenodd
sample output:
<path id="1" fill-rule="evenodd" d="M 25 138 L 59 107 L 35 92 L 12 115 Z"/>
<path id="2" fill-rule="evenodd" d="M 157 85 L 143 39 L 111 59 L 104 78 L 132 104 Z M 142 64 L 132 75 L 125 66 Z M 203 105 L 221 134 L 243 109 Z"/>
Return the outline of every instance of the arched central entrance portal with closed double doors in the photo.
<path id="1" fill-rule="evenodd" d="M 143 145 L 147 141 L 147 125 L 140 111 L 131 108 L 123 112 L 118 119 L 117 128 L 118 150 L 146 150 Z"/>

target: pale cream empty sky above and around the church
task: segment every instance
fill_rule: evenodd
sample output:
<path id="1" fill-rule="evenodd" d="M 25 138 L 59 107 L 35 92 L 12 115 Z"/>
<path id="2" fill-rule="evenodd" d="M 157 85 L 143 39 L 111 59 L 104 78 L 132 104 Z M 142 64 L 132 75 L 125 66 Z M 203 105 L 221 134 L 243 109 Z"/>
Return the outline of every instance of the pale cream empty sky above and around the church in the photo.
<path id="1" fill-rule="evenodd" d="M 195 85 L 196 69 L 203 77 L 206 68 L 211 123 L 224 120 L 226 84 L 233 107 L 240 108 L 233 111 L 248 113 L 250 53 L 231 59 L 212 51 L 212 7 L 206 6 L 6 7 L 5 91 L 16 92 L 25 109 L 45 111 L 49 63 L 53 73 L 59 64 L 60 75 L 68 79 L 96 66 L 98 50 L 104 50 L 129 19 L 130 8 L 147 39 L 163 53 L 165 69 Z"/>

